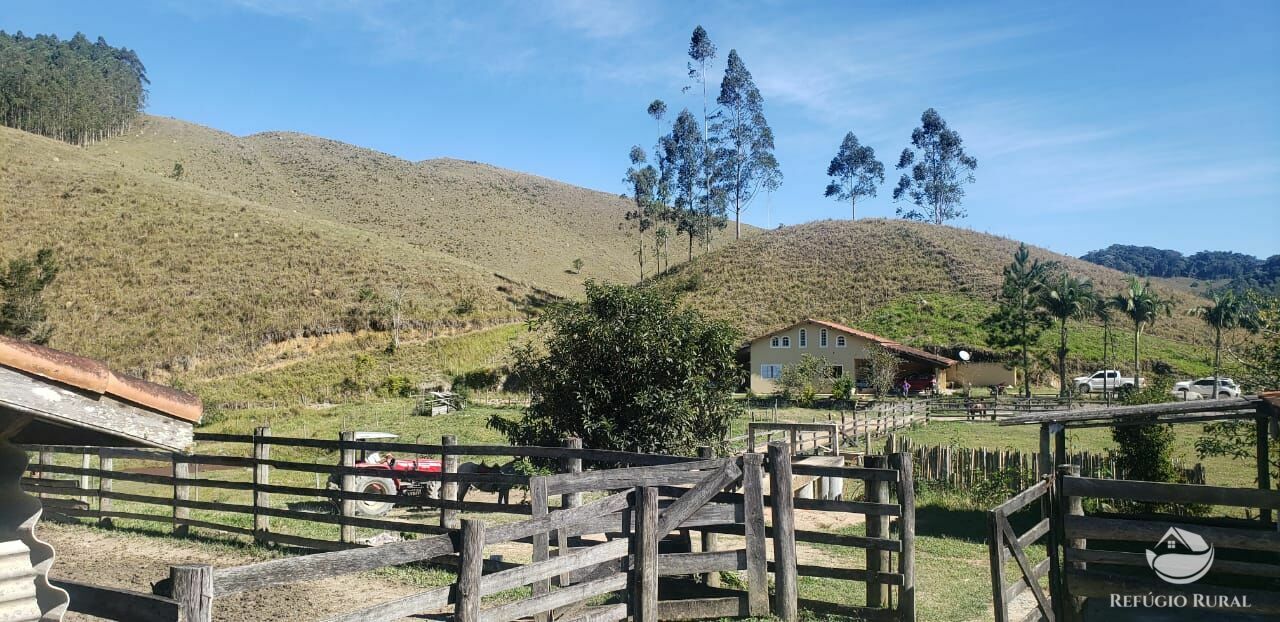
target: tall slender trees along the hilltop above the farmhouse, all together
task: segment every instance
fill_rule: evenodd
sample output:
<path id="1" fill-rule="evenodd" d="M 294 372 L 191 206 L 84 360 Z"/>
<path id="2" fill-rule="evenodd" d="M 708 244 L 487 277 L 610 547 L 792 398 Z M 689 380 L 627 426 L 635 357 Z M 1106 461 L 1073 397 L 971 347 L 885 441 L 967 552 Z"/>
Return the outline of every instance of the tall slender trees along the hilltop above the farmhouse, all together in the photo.
<path id="1" fill-rule="evenodd" d="M 712 237 L 728 227 L 730 216 L 733 237 L 740 238 L 742 212 L 760 193 L 782 184 L 764 97 L 737 50 L 730 50 L 719 95 L 710 99 L 708 72 L 714 69 L 716 55 L 707 31 L 694 28 L 686 65 L 690 83 L 684 92 L 700 97 L 695 111 L 684 108 L 667 124 L 667 102 L 653 100 L 646 108 L 657 123 L 653 151 L 636 145 L 628 154 L 630 168 L 622 182 L 635 209 L 627 211 L 622 227 L 637 234 L 635 256 L 641 279 L 650 260 L 653 274 L 664 270 L 673 238 L 685 235 L 690 260 L 695 246 L 710 250 Z M 964 187 L 973 183 L 977 166 L 978 160 L 965 152 L 960 134 L 937 110 L 925 110 L 920 127 L 911 132 L 911 146 L 899 156 L 896 168 L 902 175 L 893 200 L 905 205 L 897 214 L 934 224 L 964 218 Z M 874 197 L 884 182 L 884 165 L 876 159 L 874 148 L 849 132 L 827 175 L 831 183 L 824 195 L 847 201 L 856 219 L 858 201 Z"/>

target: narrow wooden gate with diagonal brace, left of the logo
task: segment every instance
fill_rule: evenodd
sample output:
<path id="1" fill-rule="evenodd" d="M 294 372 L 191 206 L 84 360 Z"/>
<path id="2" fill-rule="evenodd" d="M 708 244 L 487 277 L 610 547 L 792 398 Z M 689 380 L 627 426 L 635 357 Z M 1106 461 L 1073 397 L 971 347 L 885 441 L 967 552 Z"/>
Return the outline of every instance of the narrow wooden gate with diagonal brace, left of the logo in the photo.
<path id="1" fill-rule="evenodd" d="M 1018 534 L 1009 522 L 1010 516 L 1037 511 L 1039 521 L 1023 534 Z M 1053 480 L 1048 477 L 987 512 L 989 526 L 987 546 L 991 555 L 991 589 L 996 622 L 1053 622 L 1056 619 L 1052 602 L 1056 595 L 1053 590 L 1046 590 L 1041 585 L 1041 580 L 1050 575 L 1052 575 L 1050 585 L 1053 585 L 1052 580 L 1057 575 L 1053 570 L 1057 567 L 1057 548 L 1052 541 L 1052 517 Z M 1041 540 L 1047 540 L 1047 554 L 1044 559 L 1032 564 L 1027 555 L 1028 548 Z M 1018 577 L 1006 584 L 1005 564 L 1010 559 L 1015 562 Z M 1036 599 L 1034 607 L 1025 614 L 1012 618 L 1010 605 L 1027 590 L 1030 590 Z"/>

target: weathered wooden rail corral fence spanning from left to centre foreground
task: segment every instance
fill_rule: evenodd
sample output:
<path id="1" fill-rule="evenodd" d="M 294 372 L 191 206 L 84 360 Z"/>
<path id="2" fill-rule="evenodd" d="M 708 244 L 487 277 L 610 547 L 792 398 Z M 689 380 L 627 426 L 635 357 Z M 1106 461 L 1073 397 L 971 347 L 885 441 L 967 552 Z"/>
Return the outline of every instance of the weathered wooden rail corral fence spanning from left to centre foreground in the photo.
<path id="1" fill-rule="evenodd" d="M 863 467 L 844 467 L 805 463 L 805 461 L 792 463 L 791 445 L 786 443 L 772 443 L 767 457 L 753 453 L 736 458 L 699 459 L 577 447 L 456 445 L 449 439 L 440 445 L 353 442 L 349 438 L 337 442 L 288 439 L 273 438 L 269 430 L 259 430 L 259 434 L 252 436 L 202 436 L 202 442 L 248 444 L 251 454 L 244 457 L 166 454 L 120 448 L 92 448 L 90 452 L 90 448 L 82 447 L 38 445 L 28 448 L 40 454 L 40 461 L 31 467 L 32 475 L 38 474 L 38 476 L 26 477 L 23 485 L 28 491 L 44 497 L 50 513 L 99 521 L 113 518 L 159 521 L 173 525 L 179 532 L 192 527 L 214 529 L 251 536 L 264 543 L 329 550 L 238 568 L 174 567 L 169 577 L 173 589 L 165 596 L 122 590 L 102 593 L 114 594 L 116 604 L 113 607 L 122 612 L 132 610 L 129 603 L 136 603 L 140 607 L 146 604 L 150 608 L 147 610 L 152 613 L 111 616 L 109 613 L 116 609 L 101 607 L 93 609 L 108 613 L 102 617 L 169 621 L 178 619 L 173 613 L 180 609 L 186 616 L 184 619 L 198 622 L 210 619 L 212 603 L 218 596 L 301 580 L 431 561 L 460 568 L 456 589 L 431 590 L 334 619 L 351 622 L 398 619 L 408 613 L 422 613 L 448 605 L 453 608 L 454 619 L 499 621 L 534 614 L 545 619 L 545 613 L 552 609 L 562 612 L 564 607 L 607 593 L 625 593 L 626 598 L 620 603 L 621 607 L 613 604 L 604 609 L 584 609 L 577 617 L 621 619 L 631 616 L 635 619 L 689 619 L 772 613 L 783 619 L 795 619 L 797 609 L 803 607 L 814 612 L 865 619 L 915 619 L 915 503 L 911 462 L 905 454 L 887 458 L 869 456 Z M 332 466 L 282 461 L 270 457 L 270 447 L 337 451 L 342 456 L 342 463 Z M 379 474 L 376 470 L 355 468 L 352 463 L 356 449 L 442 454 L 445 458 L 447 472 Z M 55 461 L 56 453 L 77 458 Z M 562 472 L 532 479 L 499 474 L 458 474 L 457 461 L 449 459 L 458 456 L 513 454 L 554 459 L 561 465 Z M 156 475 L 114 468 L 113 462 L 122 458 L 131 462 L 168 463 L 170 472 Z M 56 462 L 78 462 L 78 465 Z M 219 477 L 237 468 L 247 470 L 248 481 L 201 477 L 210 475 L 207 471 L 197 470 L 206 465 L 230 467 L 229 471 L 212 472 Z M 636 466 L 584 471 L 584 465 Z M 273 484 L 273 474 L 282 471 L 333 474 L 343 477 L 343 486 L 340 490 L 326 490 Z M 440 511 L 440 523 L 358 517 L 346 509 L 335 514 L 316 514 L 276 507 L 282 495 L 332 498 L 338 502 L 392 500 L 389 495 L 351 490 L 349 476 L 370 475 L 371 471 L 372 475 L 434 479 L 444 484 L 444 498 L 426 503 Z M 64 477 L 46 479 L 51 475 Z M 796 481 L 815 479 L 860 480 L 864 495 L 859 500 L 845 500 L 840 494 L 808 498 L 803 493 L 796 493 Z M 160 495 L 154 490 L 150 494 L 141 494 L 113 488 L 113 482 L 122 481 L 131 485 L 145 484 L 172 494 Z M 456 499 L 456 486 L 451 484 L 466 482 L 524 484 L 529 486 L 531 503 L 529 506 L 461 503 Z M 739 485 L 741 491 L 726 491 Z M 831 489 L 828 486 L 828 490 Z M 200 490 L 236 490 L 247 493 L 252 502 L 200 500 Z M 616 490 L 623 493 L 608 494 Z M 582 504 L 582 495 L 594 493 L 605 493 L 607 497 Z M 655 499 L 650 499 L 652 497 Z M 87 503 L 91 499 L 97 499 L 96 508 Z M 558 506 L 554 502 L 558 502 Z M 161 506 L 166 512 L 122 511 L 113 503 Z M 765 507 L 773 517 L 772 523 L 765 523 Z M 252 527 L 232 525 L 234 521 L 230 520 L 196 520 L 191 516 L 192 511 L 224 517 L 248 517 Z M 855 536 L 797 530 L 795 526 L 797 511 L 864 514 L 868 521 L 867 534 Z M 524 520 L 488 526 L 471 520 L 461 521 L 460 512 L 509 512 L 522 514 Z M 282 534 L 275 530 L 273 518 L 337 526 L 339 538 L 334 541 Z M 365 548 L 353 541 L 355 534 L 348 532 L 347 527 L 417 532 L 429 538 Z M 703 550 L 664 553 L 654 561 L 657 548 L 653 543 L 669 539 L 668 534 L 677 527 L 686 534 L 690 529 L 701 532 Z M 742 536 L 745 543 L 742 548 L 721 550 L 717 544 L 718 536 L 726 534 Z M 594 538 L 593 535 L 604 535 L 607 540 L 604 544 L 593 543 L 589 540 Z M 527 541 L 532 546 L 532 563 L 515 567 L 509 563 L 481 562 L 485 545 L 507 541 Z M 630 544 L 614 544 L 616 541 Z M 768 559 L 765 554 L 768 541 L 772 541 L 773 559 Z M 803 564 L 796 558 L 796 543 L 859 549 L 865 552 L 867 564 L 864 568 Z M 744 572 L 746 589 L 730 590 L 718 586 L 716 580 L 722 571 Z M 773 575 L 776 587 L 772 599 L 768 590 L 769 573 Z M 680 575 L 703 576 L 700 598 L 675 603 L 655 602 L 657 580 L 653 577 Z M 803 576 L 861 582 L 867 591 L 867 605 L 850 607 L 800 598 L 797 586 L 799 577 Z M 532 595 L 517 603 L 476 610 L 479 598 L 518 585 L 531 585 Z M 86 590 L 91 587 L 86 586 Z M 90 609 L 83 610 L 92 613 Z"/>

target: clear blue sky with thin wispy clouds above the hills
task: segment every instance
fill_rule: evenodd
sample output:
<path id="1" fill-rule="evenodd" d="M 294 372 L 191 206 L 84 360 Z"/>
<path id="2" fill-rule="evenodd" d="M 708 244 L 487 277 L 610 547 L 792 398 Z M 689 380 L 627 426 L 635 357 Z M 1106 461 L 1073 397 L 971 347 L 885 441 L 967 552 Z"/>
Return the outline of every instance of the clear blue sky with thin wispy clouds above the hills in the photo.
<path id="1" fill-rule="evenodd" d="M 737 49 L 785 182 L 745 220 L 847 218 L 826 166 L 855 132 L 886 184 L 936 108 L 978 159 L 961 227 L 1280 252 L 1280 3 L 0 1 L 0 28 L 138 50 L 152 114 L 479 160 L 622 192 L 645 115 L 684 95 L 690 31 Z M 718 84 L 718 70 L 714 79 Z M 672 115 L 673 116 L 673 115 Z"/>

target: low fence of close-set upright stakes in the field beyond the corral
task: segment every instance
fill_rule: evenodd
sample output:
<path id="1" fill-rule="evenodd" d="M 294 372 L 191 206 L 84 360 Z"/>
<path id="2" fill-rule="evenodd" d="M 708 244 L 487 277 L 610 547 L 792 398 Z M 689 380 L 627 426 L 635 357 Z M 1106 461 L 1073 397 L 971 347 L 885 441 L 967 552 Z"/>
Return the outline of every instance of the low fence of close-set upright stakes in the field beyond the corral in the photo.
<path id="1" fill-rule="evenodd" d="M 1009 485 L 1021 490 L 1039 480 L 1039 453 L 1018 449 L 987 449 L 983 447 L 916 445 L 902 438 L 888 452 L 908 452 L 916 465 L 916 479 L 937 481 L 948 486 L 968 488 L 991 477 L 1009 477 Z M 1102 453 L 1073 452 L 1064 463 L 1080 467 L 1085 477 L 1124 479 L 1115 458 Z M 1184 467 L 1174 465 L 1183 481 L 1204 484 L 1204 465 L 1197 462 Z"/>

